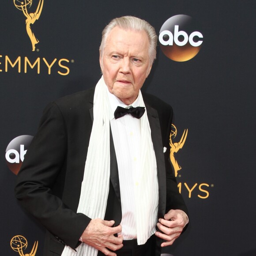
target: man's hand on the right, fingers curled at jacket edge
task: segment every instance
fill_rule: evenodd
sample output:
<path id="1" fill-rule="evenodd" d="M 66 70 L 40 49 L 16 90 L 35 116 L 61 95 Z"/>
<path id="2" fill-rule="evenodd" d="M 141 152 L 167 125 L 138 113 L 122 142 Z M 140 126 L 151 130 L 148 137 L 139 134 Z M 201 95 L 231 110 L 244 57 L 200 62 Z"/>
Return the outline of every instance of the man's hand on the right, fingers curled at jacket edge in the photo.
<path id="1" fill-rule="evenodd" d="M 157 231 L 155 235 L 166 240 L 161 244 L 162 247 L 165 247 L 172 245 L 175 239 L 180 236 L 188 218 L 184 211 L 170 210 L 164 216 L 164 219 L 160 218 L 158 221 L 157 226 L 162 233 Z"/>

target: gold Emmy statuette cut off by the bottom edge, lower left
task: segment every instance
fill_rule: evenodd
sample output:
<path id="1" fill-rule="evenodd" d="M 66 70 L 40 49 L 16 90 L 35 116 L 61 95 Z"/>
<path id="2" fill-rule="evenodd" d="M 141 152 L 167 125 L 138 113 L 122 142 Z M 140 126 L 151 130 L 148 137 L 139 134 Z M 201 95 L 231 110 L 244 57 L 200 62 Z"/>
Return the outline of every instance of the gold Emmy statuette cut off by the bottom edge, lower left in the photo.
<path id="1" fill-rule="evenodd" d="M 30 253 L 23 253 L 23 249 L 26 250 L 27 241 L 23 236 L 15 236 L 11 238 L 11 248 L 15 252 L 19 252 L 20 256 L 35 256 L 38 249 L 38 241 L 34 242 L 33 248 Z"/>

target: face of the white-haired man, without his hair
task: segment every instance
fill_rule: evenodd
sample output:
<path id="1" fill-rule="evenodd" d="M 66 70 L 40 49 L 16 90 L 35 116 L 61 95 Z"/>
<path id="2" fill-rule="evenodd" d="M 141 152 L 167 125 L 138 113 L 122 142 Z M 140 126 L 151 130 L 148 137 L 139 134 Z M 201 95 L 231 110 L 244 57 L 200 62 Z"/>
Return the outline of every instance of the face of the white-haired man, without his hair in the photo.
<path id="1" fill-rule="evenodd" d="M 126 105 L 136 100 L 151 70 L 148 48 L 145 31 L 114 27 L 100 53 L 102 74 L 109 92 Z"/>

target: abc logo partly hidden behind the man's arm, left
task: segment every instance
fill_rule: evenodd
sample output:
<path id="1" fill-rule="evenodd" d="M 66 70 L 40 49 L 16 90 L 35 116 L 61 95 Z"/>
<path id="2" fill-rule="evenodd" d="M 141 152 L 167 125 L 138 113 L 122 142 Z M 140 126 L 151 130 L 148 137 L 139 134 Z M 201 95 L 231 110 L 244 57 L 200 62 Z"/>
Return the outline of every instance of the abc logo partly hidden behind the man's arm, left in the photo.
<path id="1" fill-rule="evenodd" d="M 32 139 L 33 136 L 30 135 L 16 137 L 6 148 L 5 159 L 7 166 L 16 175 L 19 173 L 27 148 L 29 147 Z"/>

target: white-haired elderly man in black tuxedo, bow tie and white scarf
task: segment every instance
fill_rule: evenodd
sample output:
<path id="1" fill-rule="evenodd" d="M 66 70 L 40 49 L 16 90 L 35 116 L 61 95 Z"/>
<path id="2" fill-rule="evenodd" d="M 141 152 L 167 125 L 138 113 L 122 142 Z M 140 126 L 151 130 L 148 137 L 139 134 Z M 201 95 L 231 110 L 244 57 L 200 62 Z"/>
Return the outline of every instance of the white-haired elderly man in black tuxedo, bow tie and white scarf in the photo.
<path id="1" fill-rule="evenodd" d="M 187 224 L 168 154 L 172 109 L 140 92 L 156 44 L 146 21 L 113 19 L 96 87 L 45 108 L 15 188 L 48 230 L 45 256 L 160 256 Z"/>

